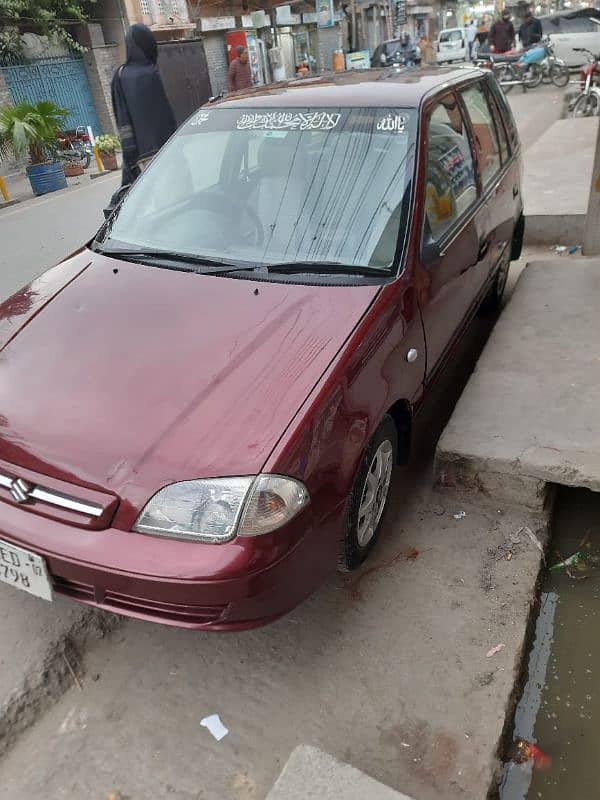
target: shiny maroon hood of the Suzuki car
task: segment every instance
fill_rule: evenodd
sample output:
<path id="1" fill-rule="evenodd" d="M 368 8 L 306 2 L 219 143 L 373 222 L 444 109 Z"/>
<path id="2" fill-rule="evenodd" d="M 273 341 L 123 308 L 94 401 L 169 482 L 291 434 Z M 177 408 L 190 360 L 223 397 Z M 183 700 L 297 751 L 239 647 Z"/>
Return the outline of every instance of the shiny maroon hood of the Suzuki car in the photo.
<path id="1" fill-rule="evenodd" d="M 0 459 L 137 504 L 256 474 L 378 291 L 84 250 L 0 306 Z"/>

